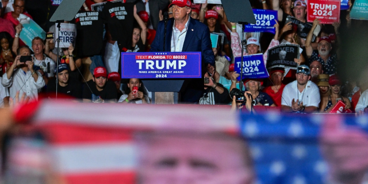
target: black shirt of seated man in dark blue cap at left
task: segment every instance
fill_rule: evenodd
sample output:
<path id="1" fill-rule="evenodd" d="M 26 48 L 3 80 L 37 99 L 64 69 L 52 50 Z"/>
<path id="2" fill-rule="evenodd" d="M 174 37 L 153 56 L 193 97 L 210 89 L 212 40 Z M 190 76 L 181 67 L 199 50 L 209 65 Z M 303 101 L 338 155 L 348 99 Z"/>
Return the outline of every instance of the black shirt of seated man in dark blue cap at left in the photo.
<path id="1" fill-rule="evenodd" d="M 47 92 L 56 92 L 56 78 L 49 80 L 49 83 L 47 84 Z M 67 86 L 62 87 L 57 84 L 57 92 L 81 99 L 82 85 L 78 80 L 69 78 Z"/>

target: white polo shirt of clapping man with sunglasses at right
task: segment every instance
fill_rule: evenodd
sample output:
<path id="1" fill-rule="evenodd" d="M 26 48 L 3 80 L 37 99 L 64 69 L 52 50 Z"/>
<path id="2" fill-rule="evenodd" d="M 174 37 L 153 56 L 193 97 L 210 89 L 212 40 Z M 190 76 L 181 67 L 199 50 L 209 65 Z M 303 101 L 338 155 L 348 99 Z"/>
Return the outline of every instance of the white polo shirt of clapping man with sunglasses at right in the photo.
<path id="1" fill-rule="evenodd" d="M 281 99 L 281 105 L 291 106 L 292 99 L 296 102 L 303 102 L 304 106 L 318 107 L 321 101 L 319 96 L 319 89 L 315 83 L 308 80 L 306 87 L 302 92 L 297 87 L 297 81 L 294 80 L 285 86 Z"/>

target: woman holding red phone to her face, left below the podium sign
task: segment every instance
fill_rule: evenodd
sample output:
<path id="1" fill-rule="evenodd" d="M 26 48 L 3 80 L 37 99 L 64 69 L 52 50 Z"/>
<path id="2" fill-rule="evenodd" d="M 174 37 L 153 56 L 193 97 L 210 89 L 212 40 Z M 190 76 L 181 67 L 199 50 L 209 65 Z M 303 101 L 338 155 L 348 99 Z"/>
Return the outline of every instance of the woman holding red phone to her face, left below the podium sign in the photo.
<path id="1" fill-rule="evenodd" d="M 147 95 L 143 93 L 144 87 L 140 79 L 129 79 L 128 89 L 119 99 L 119 103 L 123 104 L 150 104 L 151 101 Z M 128 95 L 127 95 L 128 94 Z"/>

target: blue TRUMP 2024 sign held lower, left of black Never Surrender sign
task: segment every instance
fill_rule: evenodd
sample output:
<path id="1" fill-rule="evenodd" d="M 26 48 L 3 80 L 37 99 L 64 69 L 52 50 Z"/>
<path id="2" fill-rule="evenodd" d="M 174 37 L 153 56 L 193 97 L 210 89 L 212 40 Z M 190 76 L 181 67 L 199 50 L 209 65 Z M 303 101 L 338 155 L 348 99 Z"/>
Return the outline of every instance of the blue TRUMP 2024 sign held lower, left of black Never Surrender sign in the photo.
<path id="1" fill-rule="evenodd" d="M 234 71 L 240 74 L 241 57 L 235 58 Z M 268 78 L 268 72 L 263 62 L 263 54 L 243 56 L 243 79 Z M 237 78 L 240 80 L 240 77 Z"/>

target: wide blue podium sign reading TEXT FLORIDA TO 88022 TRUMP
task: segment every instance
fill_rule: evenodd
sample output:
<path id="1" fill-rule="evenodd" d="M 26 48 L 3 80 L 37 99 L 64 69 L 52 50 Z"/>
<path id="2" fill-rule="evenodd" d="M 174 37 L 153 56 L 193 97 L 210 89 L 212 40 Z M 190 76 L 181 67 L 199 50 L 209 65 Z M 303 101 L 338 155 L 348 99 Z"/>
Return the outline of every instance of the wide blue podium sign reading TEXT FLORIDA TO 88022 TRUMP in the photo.
<path id="1" fill-rule="evenodd" d="M 121 53 L 121 78 L 202 78 L 201 52 Z"/>

